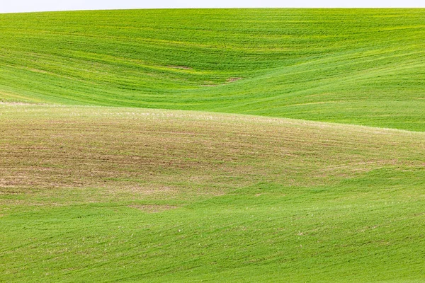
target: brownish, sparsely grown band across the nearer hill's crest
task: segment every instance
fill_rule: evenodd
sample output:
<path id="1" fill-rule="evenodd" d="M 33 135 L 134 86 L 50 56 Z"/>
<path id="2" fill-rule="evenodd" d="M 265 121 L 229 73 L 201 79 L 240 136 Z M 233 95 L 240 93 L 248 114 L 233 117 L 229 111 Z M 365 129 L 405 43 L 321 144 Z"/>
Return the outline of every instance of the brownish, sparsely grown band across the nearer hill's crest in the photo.
<path id="1" fill-rule="evenodd" d="M 131 200 L 215 196 L 262 181 L 324 185 L 385 166 L 424 166 L 421 133 L 182 111 L 15 107 L 32 111 L 0 116 L 2 189 L 96 187 Z"/>

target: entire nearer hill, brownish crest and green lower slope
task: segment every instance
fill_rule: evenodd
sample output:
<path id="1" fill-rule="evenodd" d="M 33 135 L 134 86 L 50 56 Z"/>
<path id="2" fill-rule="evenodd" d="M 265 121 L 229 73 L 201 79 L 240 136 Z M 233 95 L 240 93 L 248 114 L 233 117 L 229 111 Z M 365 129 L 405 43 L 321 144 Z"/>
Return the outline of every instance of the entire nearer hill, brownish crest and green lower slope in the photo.
<path id="1" fill-rule="evenodd" d="M 0 131 L 1 281 L 425 279 L 424 133 L 10 103 Z"/>

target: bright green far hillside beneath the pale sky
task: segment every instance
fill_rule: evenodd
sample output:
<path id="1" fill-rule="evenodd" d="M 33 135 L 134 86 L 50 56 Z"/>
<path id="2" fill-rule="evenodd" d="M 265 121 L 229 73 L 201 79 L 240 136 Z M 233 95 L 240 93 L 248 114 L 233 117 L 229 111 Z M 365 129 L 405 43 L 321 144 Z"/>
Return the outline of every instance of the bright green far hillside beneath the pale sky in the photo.
<path id="1" fill-rule="evenodd" d="M 0 99 L 425 129 L 424 9 L 0 15 Z"/>

